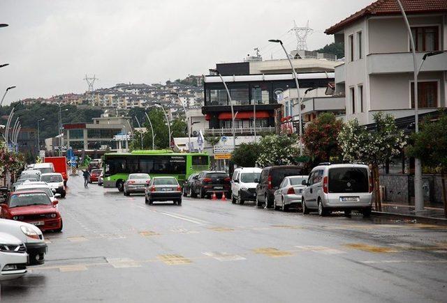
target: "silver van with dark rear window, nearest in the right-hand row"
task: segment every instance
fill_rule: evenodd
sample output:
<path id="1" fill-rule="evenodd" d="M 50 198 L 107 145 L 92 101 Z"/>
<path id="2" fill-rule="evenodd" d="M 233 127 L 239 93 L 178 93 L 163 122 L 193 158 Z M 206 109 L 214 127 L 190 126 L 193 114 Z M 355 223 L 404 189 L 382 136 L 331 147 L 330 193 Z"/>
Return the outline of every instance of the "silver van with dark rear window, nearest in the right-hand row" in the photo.
<path id="1" fill-rule="evenodd" d="M 371 214 L 373 179 L 367 165 L 319 165 L 312 169 L 307 187 L 302 193 L 302 212 L 318 210 L 318 215 L 328 215 L 333 210 L 360 211 Z"/>

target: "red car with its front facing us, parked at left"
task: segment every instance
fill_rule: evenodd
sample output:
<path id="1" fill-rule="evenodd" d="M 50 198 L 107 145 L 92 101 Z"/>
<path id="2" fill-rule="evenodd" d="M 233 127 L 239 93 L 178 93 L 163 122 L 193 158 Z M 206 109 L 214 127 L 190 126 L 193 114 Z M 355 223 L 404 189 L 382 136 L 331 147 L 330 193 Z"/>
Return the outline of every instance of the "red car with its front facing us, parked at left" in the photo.
<path id="1" fill-rule="evenodd" d="M 1 205 L 3 219 L 27 222 L 41 231 L 62 231 L 62 218 L 56 205 L 45 192 L 30 190 L 11 192 Z"/>

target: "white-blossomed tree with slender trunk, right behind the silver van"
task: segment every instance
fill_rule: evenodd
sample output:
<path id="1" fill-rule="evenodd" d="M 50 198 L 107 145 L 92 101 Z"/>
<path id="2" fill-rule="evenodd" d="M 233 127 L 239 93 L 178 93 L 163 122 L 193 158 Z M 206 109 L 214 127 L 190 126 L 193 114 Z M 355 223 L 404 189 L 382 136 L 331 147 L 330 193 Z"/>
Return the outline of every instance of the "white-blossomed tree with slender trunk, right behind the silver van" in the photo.
<path id="1" fill-rule="evenodd" d="M 349 162 L 365 162 L 372 165 L 376 210 L 381 211 L 379 190 L 379 165 L 399 155 L 406 141 L 404 132 L 397 130 L 394 117 L 378 112 L 373 116 L 376 129 L 368 132 L 357 119 L 348 121 L 339 132 L 339 142 L 343 150 L 343 159 Z"/>

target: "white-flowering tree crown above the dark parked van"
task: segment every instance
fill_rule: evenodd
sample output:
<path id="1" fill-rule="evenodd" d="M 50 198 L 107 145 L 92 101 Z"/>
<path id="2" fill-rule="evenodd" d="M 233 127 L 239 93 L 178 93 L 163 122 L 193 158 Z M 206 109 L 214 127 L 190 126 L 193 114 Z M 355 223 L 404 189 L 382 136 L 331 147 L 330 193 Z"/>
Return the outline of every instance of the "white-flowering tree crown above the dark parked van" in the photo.
<path id="1" fill-rule="evenodd" d="M 271 134 L 259 143 L 258 164 L 260 166 L 296 164 L 300 155 L 296 134 Z"/>

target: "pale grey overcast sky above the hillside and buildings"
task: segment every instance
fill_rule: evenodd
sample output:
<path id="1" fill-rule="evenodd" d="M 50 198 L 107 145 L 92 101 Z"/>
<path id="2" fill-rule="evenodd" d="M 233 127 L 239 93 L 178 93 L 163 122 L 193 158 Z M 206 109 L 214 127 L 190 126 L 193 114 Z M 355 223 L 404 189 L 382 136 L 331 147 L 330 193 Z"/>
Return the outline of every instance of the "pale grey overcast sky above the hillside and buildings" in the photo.
<path id="1" fill-rule="evenodd" d="M 222 61 L 241 61 L 261 49 L 284 58 L 296 40 L 288 29 L 314 32 L 310 50 L 333 41 L 323 33 L 372 0 L 0 0 L 0 93 L 5 104 L 119 82 L 159 83 L 203 75 Z"/>

